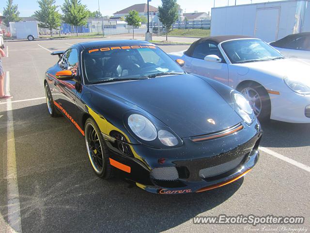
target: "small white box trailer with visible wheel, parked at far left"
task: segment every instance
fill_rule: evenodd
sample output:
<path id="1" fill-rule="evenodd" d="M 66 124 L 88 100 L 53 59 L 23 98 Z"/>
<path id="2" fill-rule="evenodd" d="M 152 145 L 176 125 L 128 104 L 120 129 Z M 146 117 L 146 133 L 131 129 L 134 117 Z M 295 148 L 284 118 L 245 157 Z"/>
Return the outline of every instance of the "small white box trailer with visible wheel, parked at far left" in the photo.
<path id="1" fill-rule="evenodd" d="M 34 40 L 39 38 L 37 22 L 10 22 L 12 37 L 16 39 Z"/>

